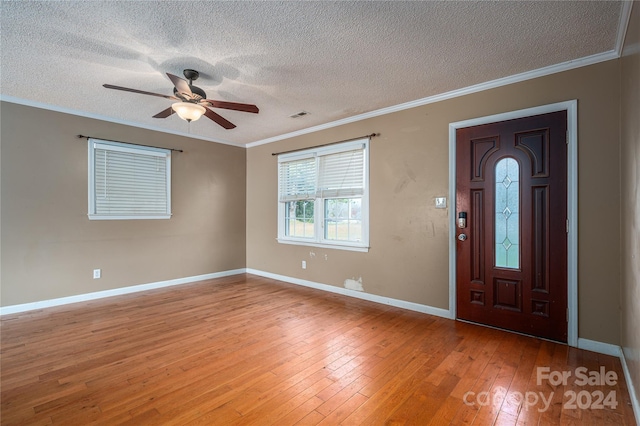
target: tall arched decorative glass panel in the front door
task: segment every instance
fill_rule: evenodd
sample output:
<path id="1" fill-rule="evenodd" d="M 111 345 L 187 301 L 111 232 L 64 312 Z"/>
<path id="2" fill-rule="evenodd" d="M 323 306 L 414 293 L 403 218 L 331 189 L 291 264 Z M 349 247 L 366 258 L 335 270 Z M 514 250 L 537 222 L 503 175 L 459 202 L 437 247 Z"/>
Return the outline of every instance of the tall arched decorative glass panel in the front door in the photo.
<path id="1" fill-rule="evenodd" d="M 499 268 L 520 267 L 520 167 L 510 157 L 496 164 L 495 259 Z"/>

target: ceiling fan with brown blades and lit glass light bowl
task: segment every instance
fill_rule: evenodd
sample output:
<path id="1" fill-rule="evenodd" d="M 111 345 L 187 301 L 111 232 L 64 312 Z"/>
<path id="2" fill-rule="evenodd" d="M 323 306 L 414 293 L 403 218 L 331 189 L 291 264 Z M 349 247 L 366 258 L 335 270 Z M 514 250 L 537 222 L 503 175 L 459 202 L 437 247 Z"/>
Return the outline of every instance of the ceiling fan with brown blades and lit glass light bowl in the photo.
<path id="1" fill-rule="evenodd" d="M 255 114 L 258 113 L 258 107 L 255 105 L 207 99 L 207 94 L 204 92 L 204 90 L 193 85 L 193 82 L 198 79 L 200 73 L 196 70 L 186 69 L 183 71 L 183 74 L 187 78 L 187 80 L 189 80 L 188 82 L 178 76 L 167 73 L 167 77 L 169 77 L 169 79 L 175 86 L 173 88 L 174 96 L 145 92 L 143 90 L 137 89 L 129 89 L 128 87 L 114 86 L 112 84 L 103 84 L 102 86 L 106 87 L 107 89 L 140 93 L 142 95 L 159 96 L 161 98 L 177 101 L 169 108 L 154 115 L 153 118 L 167 118 L 175 112 L 183 120 L 191 122 L 199 119 L 200 117 L 202 117 L 202 115 L 206 115 L 209 119 L 215 121 L 225 129 L 233 129 L 234 127 L 236 127 L 235 124 L 222 117 L 221 115 L 213 112 L 209 108 L 222 108 L 231 109 L 234 111 L 252 112 Z"/>

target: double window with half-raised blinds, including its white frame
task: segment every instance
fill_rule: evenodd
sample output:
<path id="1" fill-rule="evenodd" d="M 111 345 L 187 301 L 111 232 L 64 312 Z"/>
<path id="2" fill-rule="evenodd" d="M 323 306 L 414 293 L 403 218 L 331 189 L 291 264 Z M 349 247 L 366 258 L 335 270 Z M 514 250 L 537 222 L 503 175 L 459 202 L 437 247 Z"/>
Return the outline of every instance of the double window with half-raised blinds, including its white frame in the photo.
<path id="1" fill-rule="evenodd" d="M 367 251 L 369 139 L 278 156 L 278 241 Z"/>

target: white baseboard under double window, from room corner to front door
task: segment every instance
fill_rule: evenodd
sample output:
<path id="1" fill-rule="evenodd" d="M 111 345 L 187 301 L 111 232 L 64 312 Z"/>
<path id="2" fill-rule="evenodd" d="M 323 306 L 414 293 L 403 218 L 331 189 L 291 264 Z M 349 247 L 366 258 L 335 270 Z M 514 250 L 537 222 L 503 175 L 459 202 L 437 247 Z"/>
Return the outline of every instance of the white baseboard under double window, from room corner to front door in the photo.
<path id="1" fill-rule="evenodd" d="M 304 287 L 311 287 L 317 290 L 328 291 L 330 293 L 342 294 L 344 296 L 355 297 L 357 299 L 367 300 L 369 302 L 380 303 L 383 305 L 394 306 L 396 308 L 407 309 L 415 312 L 422 312 L 423 314 L 435 315 L 442 318 L 453 319 L 451 313 L 447 309 L 435 308 L 433 306 L 422 305 L 419 303 L 407 302 L 399 299 L 392 299 L 390 297 L 378 296 L 377 294 L 364 293 L 360 291 L 350 290 L 343 287 L 336 287 L 333 285 L 317 283 L 313 281 L 304 280 L 301 278 L 288 277 L 286 275 L 273 274 L 271 272 L 260 271 L 257 269 L 247 268 L 247 274 L 259 275 L 265 278 L 271 278 L 278 281 L 284 281 L 290 284 L 297 284 Z"/>

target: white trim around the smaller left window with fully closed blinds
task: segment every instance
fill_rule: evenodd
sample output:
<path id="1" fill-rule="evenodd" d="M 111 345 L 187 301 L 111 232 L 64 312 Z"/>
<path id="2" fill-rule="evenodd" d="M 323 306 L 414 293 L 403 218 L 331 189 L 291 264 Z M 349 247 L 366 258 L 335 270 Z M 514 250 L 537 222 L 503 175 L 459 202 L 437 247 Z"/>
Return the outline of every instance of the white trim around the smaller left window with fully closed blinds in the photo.
<path id="1" fill-rule="evenodd" d="M 164 148 L 155 148 L 144 145 L 135 145 L 123 142 L 114 142 L 102 139 L 88 138 L 88 213 L 89 220 L 139 220 L 139 219 L 170 219 L 171 218 L 171 150 Z M 110 149 L 113 151 L 129 152 L 132 154 L 143 154 L 155 157 L 164 157 L 166 161 L 166 194 L 167 194 L 167 210 L 161 214 L 145 214 L 145 215 L 105 215 L 97 214 L 96 198 L 95 198 L 95 150 Z"/>

